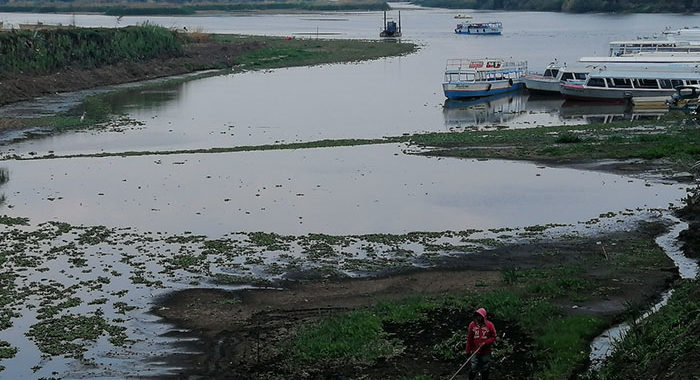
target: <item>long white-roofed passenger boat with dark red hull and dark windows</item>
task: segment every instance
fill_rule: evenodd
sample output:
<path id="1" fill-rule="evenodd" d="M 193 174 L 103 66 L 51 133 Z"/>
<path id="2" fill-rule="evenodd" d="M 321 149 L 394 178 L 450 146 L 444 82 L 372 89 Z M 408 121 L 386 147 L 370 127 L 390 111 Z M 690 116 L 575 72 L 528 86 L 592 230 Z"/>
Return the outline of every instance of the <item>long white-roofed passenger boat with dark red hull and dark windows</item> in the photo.
<path id="1" fill-rule="evenodd" d="M 665 66 L 665 67 L 664 67 Z M 626 102 L 631 98 L 671 96 L 678 86 L 700 84 L 700 70 L 661 65 L 639 70 L 599 70 L 583 84 L 563 83 L 566 99 Z"/>

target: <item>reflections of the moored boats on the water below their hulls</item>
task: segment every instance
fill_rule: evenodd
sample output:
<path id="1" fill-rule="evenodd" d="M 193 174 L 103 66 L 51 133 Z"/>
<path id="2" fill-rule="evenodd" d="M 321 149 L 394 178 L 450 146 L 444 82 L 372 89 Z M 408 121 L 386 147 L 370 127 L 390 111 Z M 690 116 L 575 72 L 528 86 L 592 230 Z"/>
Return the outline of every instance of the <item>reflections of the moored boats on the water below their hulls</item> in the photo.
<path id="1" fill-rule="evenodd" d="M 445 126 L 455 128 L 527 128 L 618 121 L 658 120 L 665 108 L 635 108 L 630 104 L 565 101 L 517 91 L 468 100 L 445 100 Z"/>

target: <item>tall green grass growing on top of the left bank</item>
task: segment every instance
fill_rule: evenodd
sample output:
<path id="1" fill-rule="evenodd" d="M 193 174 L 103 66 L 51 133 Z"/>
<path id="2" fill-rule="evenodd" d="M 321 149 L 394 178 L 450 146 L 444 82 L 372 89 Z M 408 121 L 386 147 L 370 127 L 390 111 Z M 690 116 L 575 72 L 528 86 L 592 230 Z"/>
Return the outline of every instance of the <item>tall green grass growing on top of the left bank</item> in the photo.
<path id="1" fill-rule="evenodd" d="M 177 34 L 155 25 L 13 30 L 0 33 L 0 77 L 180 54 L 182 45 Z"/>

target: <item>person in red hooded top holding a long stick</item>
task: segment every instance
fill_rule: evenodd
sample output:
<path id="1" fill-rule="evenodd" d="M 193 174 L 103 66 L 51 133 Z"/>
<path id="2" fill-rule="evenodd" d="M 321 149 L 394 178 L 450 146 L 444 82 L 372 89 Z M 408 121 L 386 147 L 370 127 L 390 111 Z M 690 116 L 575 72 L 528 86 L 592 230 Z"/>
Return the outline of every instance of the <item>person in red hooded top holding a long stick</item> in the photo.
<path id="1" fill-rule="evenodd" d="M 474 354 L 469 380 L 474 380 L 477 372 L 481 373 L 482 380 L 488 380 L 491 346 L 495 341 L 496 327 L 486 319 L 486 309 L 478 309 L 474 312 L 467 333 L 467 356 Z"/>

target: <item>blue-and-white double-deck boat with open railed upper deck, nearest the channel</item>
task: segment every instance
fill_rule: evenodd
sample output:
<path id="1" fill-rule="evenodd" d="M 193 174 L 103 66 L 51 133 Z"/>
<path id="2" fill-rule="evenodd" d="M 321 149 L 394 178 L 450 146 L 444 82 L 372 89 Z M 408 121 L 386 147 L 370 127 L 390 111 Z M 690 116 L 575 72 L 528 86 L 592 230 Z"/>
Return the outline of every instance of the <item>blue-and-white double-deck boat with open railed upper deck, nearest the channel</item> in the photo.
<path id="1" fill-rule="evenodd" d="M 527 62 L 500 58 L 448 59 L 442 89 L 448 99 L 496 95 L 522 88 Z"/>

